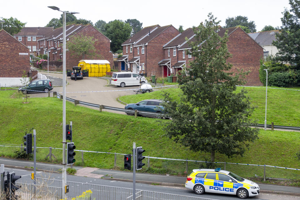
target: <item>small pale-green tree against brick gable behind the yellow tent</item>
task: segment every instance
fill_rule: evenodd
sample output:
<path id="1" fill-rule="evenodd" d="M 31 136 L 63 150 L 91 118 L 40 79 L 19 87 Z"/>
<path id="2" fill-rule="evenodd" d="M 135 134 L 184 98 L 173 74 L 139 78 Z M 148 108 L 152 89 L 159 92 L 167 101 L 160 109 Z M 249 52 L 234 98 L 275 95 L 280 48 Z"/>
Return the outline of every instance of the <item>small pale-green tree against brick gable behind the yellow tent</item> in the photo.
<path id="1" fill-rule="evenodd" d="M 75 34 L 67 41 L 67 47 L 71 55 L 81 56 L 82 59 L 84 59 L 85 56 L 95 56 L 97 52 L 97 49 L 94 46 L 96 41 L 97 40 L 95 40 L 93 36 Z"/>

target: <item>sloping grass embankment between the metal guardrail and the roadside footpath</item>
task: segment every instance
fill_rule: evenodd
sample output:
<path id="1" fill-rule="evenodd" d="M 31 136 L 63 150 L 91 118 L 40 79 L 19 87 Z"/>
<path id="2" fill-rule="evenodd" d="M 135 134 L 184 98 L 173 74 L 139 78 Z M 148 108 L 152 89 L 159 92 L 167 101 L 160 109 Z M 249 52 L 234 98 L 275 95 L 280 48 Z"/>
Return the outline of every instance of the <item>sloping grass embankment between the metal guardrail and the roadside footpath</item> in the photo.
<path id="1" fill-rule="evenodd" d="M 150 93 L 155 94 L 155 93 Z M 143 99 L 147 98 L 143 94 Z M 12 97 L 13 96 L 13 97 Z M 139 97 L 142 95 L 134 95 Z M 129 102 L 128 102 L 129 103 Z M 153 118 L 134 118 L 127 115 L 102 112 L 74 106 L 66 103 L 66 121 L 73 122 L 73 142 L 78 150 L 89 150 L 110 153 L 132 153 L 132 143 L 143 146 L 145 156 L 178 158 L 209 161 L 209 154 L 192 152 L 186 147 L 174 143 L 165 136 L 162 124 L 167 120 Z M 62 101 L 57 98 L 31 98 L 30 103 L 23 104 L 22 98 L 15 91 L 0 92 L 0 144 L 20 146 L 26 129 L 36 129 L 38 147 L 62 148 Z M 299 151 L 300 141 L 298 132 L 264 131 L 261 130 L 259 139 L 250 145 L 243 157 L 226 158 L 216 153 L 216 162 L 249 163 L 300 168 L 295 158 Z M 14 151 L 18 148 L 0 147 L 1 156 L 16 157 Z M 37 150 L 37 161 L 48 162 L 45 159 L 49 149 Z M 54 163 L 62 163 L 61 150 L 52 150 L 58 158 Z M 97 168 L 113 168 L 114 154 L 84 153 L 84 163 L 81 155 L 77 155 L 75 165 Z M 186 175 L 185 161 L 168 161 L 150 159 L 150 169 L 146 165 L 141 171 L 150 173 L 168 173 Z M 123 170 L 124 157 L 117 156 L 117 169 Z M 224 167 L 223 164 L 218 166 Z M 188 162 L 188 172 L 194 168 L 206 167 L 202 163 Z M 263 175 L 262 167 L 227 164 L 231 170 L 245 178 Z M 298 179 L 300 172 L 278 168 L 266 168 L 267 177 Z"/>

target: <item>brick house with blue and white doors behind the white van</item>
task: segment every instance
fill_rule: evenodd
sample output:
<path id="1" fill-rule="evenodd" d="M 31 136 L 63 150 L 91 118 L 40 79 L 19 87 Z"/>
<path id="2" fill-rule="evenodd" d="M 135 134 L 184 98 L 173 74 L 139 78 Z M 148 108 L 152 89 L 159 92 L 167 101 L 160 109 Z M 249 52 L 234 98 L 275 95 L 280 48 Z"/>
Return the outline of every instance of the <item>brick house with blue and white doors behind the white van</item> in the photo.
<path id="1" fill-rule="evenodd" d="M 178 33 L 172 25 L 143 28 L 122 43 L 123 56 L 118 59 L 119 70 L 160 77 L 162 68 L 158 62 L 163 59 L 163 44 Z"/>

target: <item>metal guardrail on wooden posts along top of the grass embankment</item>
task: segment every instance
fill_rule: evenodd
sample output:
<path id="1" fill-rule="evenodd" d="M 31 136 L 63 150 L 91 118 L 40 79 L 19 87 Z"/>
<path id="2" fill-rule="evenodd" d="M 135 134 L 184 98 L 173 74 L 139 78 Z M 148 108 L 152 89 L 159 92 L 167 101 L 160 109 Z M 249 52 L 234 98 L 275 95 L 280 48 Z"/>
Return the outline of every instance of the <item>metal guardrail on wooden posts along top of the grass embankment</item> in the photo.
<path id="1" fill-rule="evenodd" d="M 61 94 L 57 93 L 57 97 L 59 98 Z M 66 97 L 66 100 L 70 102 L 75 102 L 75 99 Z M 79 101 L 80 104 L 86 105 L 86 106 L 92 106 L 95 108 L 99 108 L 100 105 L 94 104 L 94 103 L 88 103 L 88 102 L 83 102 Z M 125 113 L 132 113 L 134 115 L 135 110 L 131 109 L 124 109 L 124 108 L 115 108 L 111 106 L 103 106 L 103 109 L 107 110 L 114 110 L 114 111 L 120 111 L 120 112 L 125 112 Z M 164 114 L 163 113 L 152 113 L 152 112 L 145 112 L 145 111 L 138 111 L 138 115 L 144 115 L 144 116 L 151 116 L 151 117 L 156 117 L 156 118 L 163 118 Z M 257 124 L 255 127 L 257 128 L 264 128 L 264 124 Z M 267 124 L 267 128 L 272 128 L 271 124 Z M 292 131 L 300 131 L 300 127 L 294 127 L 294 126 L 281 126 L 281 125 L 274 125 L 273 128 L 275 129 L 284 129 L 284 130 L 292 130 Z"/>

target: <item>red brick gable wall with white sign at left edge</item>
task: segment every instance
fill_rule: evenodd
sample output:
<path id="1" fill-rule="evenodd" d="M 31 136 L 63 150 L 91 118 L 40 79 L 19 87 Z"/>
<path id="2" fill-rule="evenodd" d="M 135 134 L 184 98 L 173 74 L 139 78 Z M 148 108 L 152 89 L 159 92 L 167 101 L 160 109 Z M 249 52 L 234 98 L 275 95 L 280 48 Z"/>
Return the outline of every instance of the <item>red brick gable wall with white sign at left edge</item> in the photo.
<path id="1" fill-rule="evenodd" d="M 0 77 L 22 77 L 23 71 L 28 76 L 29 69 L 29 49 L 4 30 L 0 30 Z"/>

